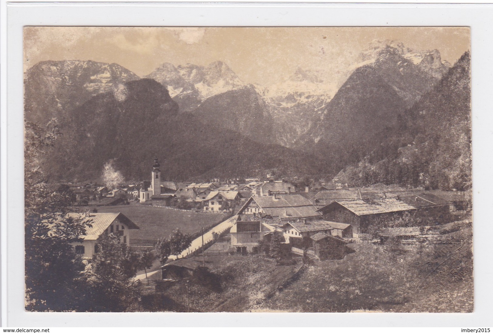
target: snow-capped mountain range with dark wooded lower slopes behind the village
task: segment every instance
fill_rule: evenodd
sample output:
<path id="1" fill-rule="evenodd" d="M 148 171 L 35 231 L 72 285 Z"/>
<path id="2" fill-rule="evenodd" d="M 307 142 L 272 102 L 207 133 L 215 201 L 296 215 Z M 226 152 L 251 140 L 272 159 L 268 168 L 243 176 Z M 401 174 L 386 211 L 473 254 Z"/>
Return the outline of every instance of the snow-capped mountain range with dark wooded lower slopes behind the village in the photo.
<path id="1" fill-rule="evenodd" d="M 65 135 L 46 165 L 54 180 L 94 179 L 108 160 L 125 177 L 143 179 L 154 154 L 170 179 L 261 176 L 266 170 L 332 177 L 368 163 L 389 137 L 414 135 L 411 116 L 419 118 L 422 132 L 457 127 L 436 127 L 438 118 L 416 114 L 416 107 L 429 96 L 445 96 L 445 81 L 450 87 L 467 81 L 469 67 L 451 77 L 464 62 L 451 68 L 437 50 L 386 42 L 363 52 L 342 84 L 298 67 L 287 80 L 261 87 L 243 82 L 220 61 L 163 63 L 143 78 L 117 64 L 46 61 L 25 74 L 25 116 L 39 124 L 56 117 L 61 124 Z M 427 107 L 447 119 L 458 112 L 435 104 Z M 470 137 L 470 128 L 460 130 Z"/>

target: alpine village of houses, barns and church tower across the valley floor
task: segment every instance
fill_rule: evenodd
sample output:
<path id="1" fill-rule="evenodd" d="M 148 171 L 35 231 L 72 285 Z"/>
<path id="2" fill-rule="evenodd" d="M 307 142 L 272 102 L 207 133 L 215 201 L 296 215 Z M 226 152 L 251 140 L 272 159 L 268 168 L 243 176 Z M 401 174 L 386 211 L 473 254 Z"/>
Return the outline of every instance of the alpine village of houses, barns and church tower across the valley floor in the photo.
<path id="1" fill-rule="evenodd" d="M 75 252 L 89 262 L 103 234 L 116 236 L 137 252 L 154 249 L 157 236 L 165 237 L 173 229 L 193 236 L 166 263 L 155 260 L 150 269 L 138 272 L 134 281 L 146 297 L 156 293 L 189 297 L 189 281 L 195 278 L 201 285 L 221 280 L 224 276 L 215 274 L 230 264 L 228 258 L 234 263 L 261 258 L 271 270 L 287 269 L 272 272 L 273 277 L 286 275 L 285 281 L 271 283 L 273 292 L 297 279 L 310 263 L 345 261 L 360 246 L 403 260 L 400 256 L 417 247 L 443 243 L 444 237 L 471 227 L 467 192 L 350 188 L 337 180 L 299 188 L 296 180 L 271 175 L 176 183 L 162 180 L 158 158 L 149 169 L 150 180 L 138 184 L 57 185 L 72 193 L 70 215 L 82 214 L 92 221 L 82 242 L 73 243 Z M 136 214 L 139 210 L 145 214 Z M 150 219 L 156 221 L 152 229 Z M 183 283 L 186 292 L 179 287 Z M 216 305 L 205 308 L 239 311 L 236 305 Z M 166 309 L 190 311 L 190 305 Z"/>

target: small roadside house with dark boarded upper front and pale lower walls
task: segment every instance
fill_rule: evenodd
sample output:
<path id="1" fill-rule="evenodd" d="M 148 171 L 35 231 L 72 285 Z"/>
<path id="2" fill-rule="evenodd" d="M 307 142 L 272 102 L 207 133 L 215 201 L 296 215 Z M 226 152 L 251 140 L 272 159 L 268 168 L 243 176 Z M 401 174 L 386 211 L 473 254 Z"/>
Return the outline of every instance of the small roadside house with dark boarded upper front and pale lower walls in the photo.
<path id="1" fill-rule="evenodd" d="M 269 225 L 264 219 L 238 219 L 231 227 L 231 247 L 237 252 L 258 253 L 258 242 L 270 239 L 276 232 L 276 226 Z"/>

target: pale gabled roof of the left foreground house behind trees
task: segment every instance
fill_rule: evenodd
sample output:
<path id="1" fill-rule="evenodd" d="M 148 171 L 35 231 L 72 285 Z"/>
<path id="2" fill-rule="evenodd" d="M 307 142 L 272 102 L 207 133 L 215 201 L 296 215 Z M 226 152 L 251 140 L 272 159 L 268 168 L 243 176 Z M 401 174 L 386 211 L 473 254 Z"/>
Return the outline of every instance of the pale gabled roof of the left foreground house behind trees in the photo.
<path id="1" fill-rule="evenodd" d="M 128 229 L 139 229 L 139 227 L 132 222 L 128 217 L 122 213 L 90 213 L 87 216 L 81 213 L 67 213 L 67 217 L 80 218 L 84 217 L 83 220 L 92 220 L 91 227 L 86 227 L 86 235 L 80 236 L 80 238 L 85 240 L 96 240 L 101 236 L 102 233 L 109 227 L 114 220 L 118 220 L 126 225 Z"/>

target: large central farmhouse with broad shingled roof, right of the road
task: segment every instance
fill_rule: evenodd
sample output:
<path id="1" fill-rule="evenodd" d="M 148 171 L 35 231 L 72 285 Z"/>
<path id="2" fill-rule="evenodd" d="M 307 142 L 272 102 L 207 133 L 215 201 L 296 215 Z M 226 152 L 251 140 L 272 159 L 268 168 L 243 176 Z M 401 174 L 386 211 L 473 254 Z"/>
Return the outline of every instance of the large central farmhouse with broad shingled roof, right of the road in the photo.
<path id="1" fill-rule="evenodd" d="M 299 194 L 250 197 L 238 211 L 241 214 L 278 216 L 282 221 L 320 219 L 320 213 L 310 200 Z"/>

